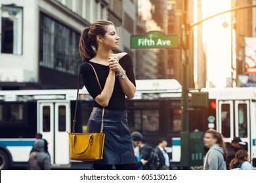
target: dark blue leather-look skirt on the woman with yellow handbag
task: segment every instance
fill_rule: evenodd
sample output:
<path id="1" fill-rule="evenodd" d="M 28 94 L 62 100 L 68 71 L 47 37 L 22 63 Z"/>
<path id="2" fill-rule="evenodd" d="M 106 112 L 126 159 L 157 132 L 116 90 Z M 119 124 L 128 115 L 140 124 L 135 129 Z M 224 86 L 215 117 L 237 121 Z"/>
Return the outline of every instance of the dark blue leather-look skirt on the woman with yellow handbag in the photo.
<path id="1" fill-rule="evenodd" d="M 102 108 L 94 107 L 87 124 L 88 133 L 99 133 Z M 123 165 L 135 163 L 135 152 L 131 132 L 127 122 L 127 110 L 110 110 L 104 112 L 105 136 L 103 159 L 95 161 L 100 165 Z"/>

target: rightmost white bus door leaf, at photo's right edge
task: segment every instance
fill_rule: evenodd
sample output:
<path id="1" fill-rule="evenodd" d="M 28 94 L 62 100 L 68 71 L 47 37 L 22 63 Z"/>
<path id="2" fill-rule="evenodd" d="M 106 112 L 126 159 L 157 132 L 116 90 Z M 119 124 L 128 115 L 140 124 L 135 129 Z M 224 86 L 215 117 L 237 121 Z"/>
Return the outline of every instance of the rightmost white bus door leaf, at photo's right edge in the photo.
<path id="1" fill-rule="evenodd" d="M 235 101 L 235 136 L 247 144 L 250 152 L 250 110 L 249 101 Z"/>

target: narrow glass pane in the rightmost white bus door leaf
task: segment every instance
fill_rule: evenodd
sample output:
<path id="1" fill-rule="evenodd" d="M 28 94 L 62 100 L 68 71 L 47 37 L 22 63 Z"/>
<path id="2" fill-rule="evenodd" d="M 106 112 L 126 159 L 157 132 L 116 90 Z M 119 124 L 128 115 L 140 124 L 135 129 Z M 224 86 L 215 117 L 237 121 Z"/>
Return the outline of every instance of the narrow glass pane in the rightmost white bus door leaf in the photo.
<path id="1" fill-rule="evenodd" d="M 247 104 L 238 104 L 238 131 L 239 137 L 247 137 Z"/>

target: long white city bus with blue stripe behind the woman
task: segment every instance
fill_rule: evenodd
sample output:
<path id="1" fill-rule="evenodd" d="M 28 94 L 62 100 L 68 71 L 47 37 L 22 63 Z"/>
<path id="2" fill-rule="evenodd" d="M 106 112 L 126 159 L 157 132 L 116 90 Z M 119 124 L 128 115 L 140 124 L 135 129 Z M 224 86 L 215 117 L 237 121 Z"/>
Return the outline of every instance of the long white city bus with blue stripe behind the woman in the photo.
<path id="1" fill-rule="evenodd" d="M 181 158 L 181 91 L 177 80 L 136 80 L 137 92 L 127 99 L 131 132 L 140 131 L 149 144 L 167 139 L 171 165 Z M 70 160 L 66 131 L 71 131 L 75 110 L 75 89 L 0 91 L 0 169 L 26 167 L 35 134 L 49 144 L 53 169 L 86 169 L 87 163 Z M 198 91 L 193 91 L 198 92 Z M 223 133 L 231 142 L 246 142 L 251 159 L 256 159 L 256 88 L 203 88 L 209 93 L 209 107 L 190 107 L 189 130 L 209 128 Z M 191 92 L 189 97 L 191 96 Z M 85 132 L 93 99 L 83 87 L 79 90 L 75 132 Z M 192 108 L 192 110 L 191 110 Z M 209 118 L 211 118 L 210 122 Z"/>

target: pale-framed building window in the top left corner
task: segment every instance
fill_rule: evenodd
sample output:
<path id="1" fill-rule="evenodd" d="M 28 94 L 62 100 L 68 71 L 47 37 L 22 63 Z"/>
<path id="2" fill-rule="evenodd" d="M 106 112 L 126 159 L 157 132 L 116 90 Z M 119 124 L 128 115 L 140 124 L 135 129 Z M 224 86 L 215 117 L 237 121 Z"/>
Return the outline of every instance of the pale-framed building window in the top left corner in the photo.
<path id="1" fill-rule="evenodd" d="M 23 9 L 2 6 L 1 10 L 1 53 L 22 54 Z"/>

